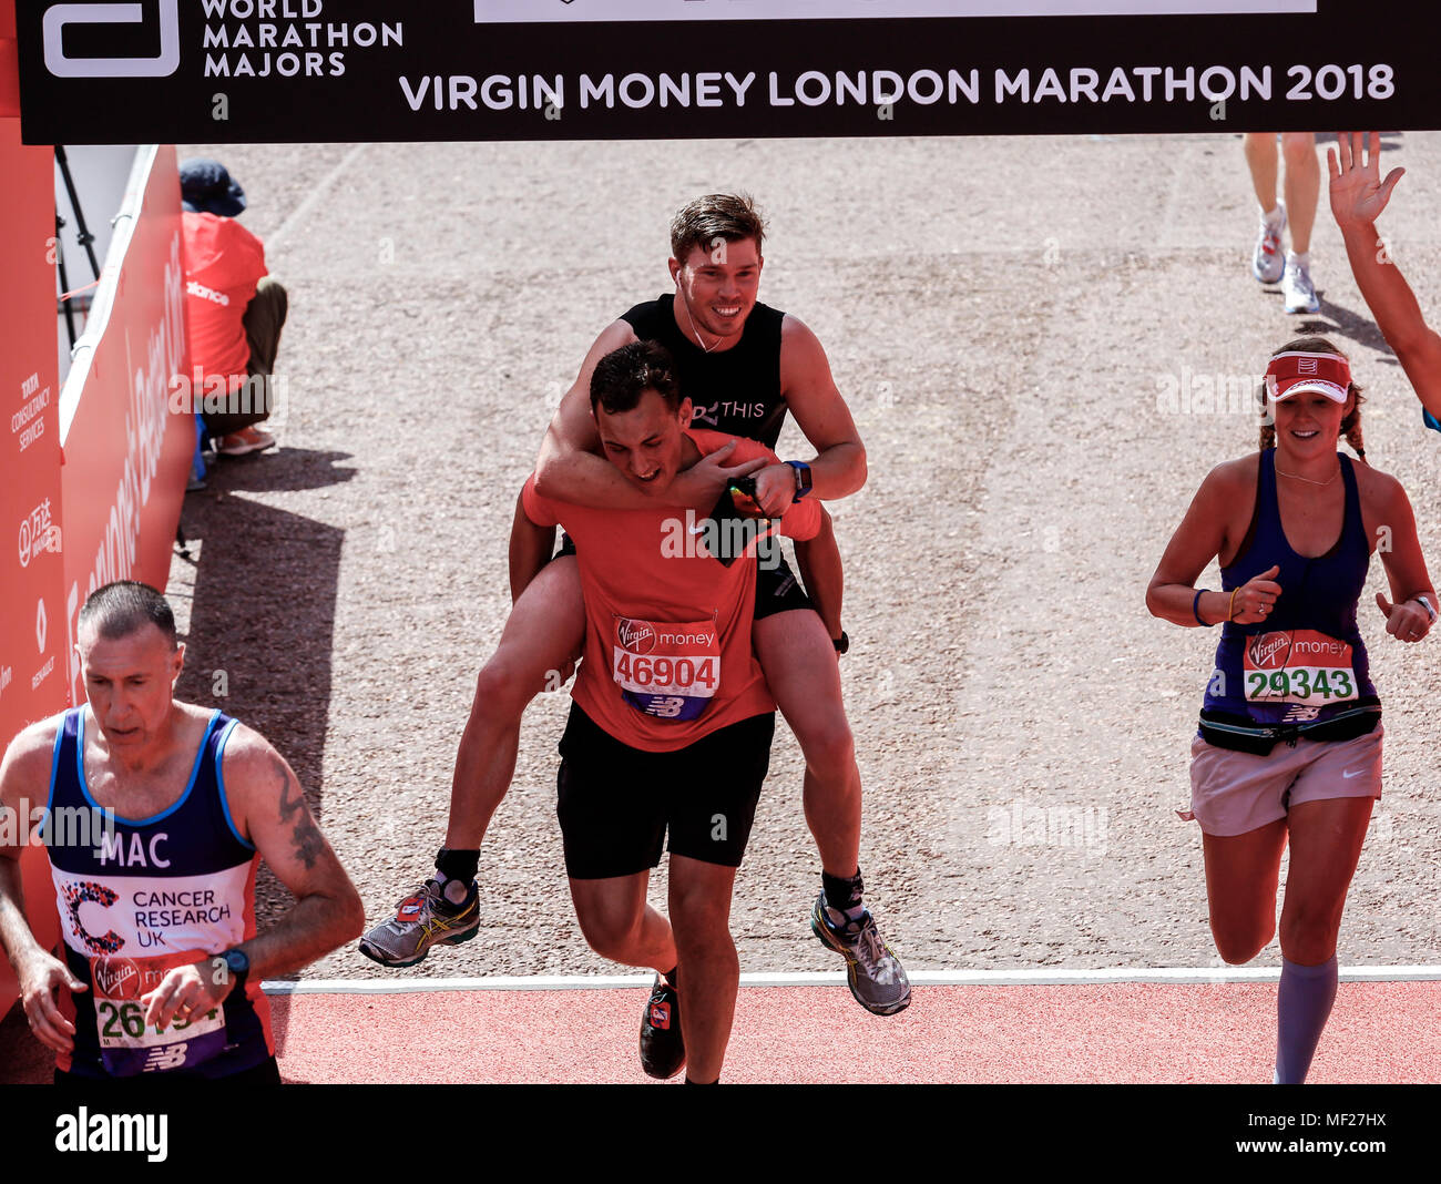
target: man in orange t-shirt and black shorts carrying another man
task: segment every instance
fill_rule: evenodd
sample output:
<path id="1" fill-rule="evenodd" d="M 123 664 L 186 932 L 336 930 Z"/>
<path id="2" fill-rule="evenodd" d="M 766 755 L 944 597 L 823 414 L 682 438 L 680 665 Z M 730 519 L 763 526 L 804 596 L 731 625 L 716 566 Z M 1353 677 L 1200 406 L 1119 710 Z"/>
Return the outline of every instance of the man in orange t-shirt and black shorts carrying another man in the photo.
<path id="1" fill-rule="evenodd" d="M 689 428 L 690 400 L 654 341 L 601 359 L 591 408 L 607 459 L 637 485 L 664 490 L 735 439 Z M 729 459 L 775 457 L 736 439 Z M 775 729 L 775 700 L 751 650 L 755 570 L 777 562 L 772 527 L 816 536 L 820 504 L 797 501 L 771 523 L 742 517 L 723 495 L 697 521 L 666 507 L 663 493 L 656 498 L 656 508 L 598 510 L 543 498 L 532 477 L 522 508 L 575 540 L 585 601 L 556 805 L 575 915 L 598 954 L 657 971 L 641 1023 L 646 1072 L 669 1077 L 684 1066 L 687 1083 L 709 1085 L 720 1076 L 739 987 L 731 893 Z M 646 903 L 667 830 L 670 919 Z"/>

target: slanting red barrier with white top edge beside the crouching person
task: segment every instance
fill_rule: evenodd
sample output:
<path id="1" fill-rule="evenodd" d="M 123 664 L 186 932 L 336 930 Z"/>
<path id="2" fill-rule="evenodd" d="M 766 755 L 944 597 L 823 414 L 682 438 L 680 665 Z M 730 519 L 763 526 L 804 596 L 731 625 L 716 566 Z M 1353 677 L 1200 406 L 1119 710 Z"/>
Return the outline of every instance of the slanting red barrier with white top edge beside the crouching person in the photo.
<path id="1" fill-rule="evenodd" d="M 85 699 L 73 651 L 85 598 L 117 579 L 164 591 L 170 576 L 195 416 L 173 413 L 167 390 L 187 369 L 176 154 L 143 147 L 61 399 L 72 703 Z"/>

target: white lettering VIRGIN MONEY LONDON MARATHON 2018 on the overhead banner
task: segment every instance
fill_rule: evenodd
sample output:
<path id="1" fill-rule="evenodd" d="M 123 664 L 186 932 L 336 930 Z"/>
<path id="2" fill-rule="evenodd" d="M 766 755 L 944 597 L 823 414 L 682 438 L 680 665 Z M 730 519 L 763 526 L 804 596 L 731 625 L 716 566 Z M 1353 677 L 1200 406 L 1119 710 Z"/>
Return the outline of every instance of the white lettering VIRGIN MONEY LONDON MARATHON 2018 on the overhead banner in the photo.
<path id="1" fill-rule="evenodd" d="M 1206 66 L 1199 69 L 1189 65 L 1177 72 L 1176 66 L 1131 66 L 1130 69 L 1115 66 L 1107 78 L 1104 89 L 1101 73 L 1089 66 L 1075 66 L 1068 71 L 1069 82 L 1062 82 L 1059 72 L 1053 66 L 1046 66 L 1032 85 L 1032 71 L 1023 66 L 1016 73 L 1009 73 L 1003 68 L 993 72 L 993 97 L 997 105 L 1007 101 L 1017 102 L 1153 102 L 1161 98 L 1164 102 L 1225 102 L 1236 98 L 1245 101 L 1268 102 L 1277 94 L 1275 68 L 1261 66 L 1259 72 L 1251 66 Z M 1133 86 L 1134 75 L 1138 88 Z M 1385 63 L 1363 66 L 1324 65 L 1317 69 L 1295 65 L 1287 69 L 1287 78 L 1295 79 L 1285 92 L 1290 101 L 1308 101 L 1313 98 L 1311 85 L 1314 81 L 1316 97 L 1336 99 L 1343 95 L 1352 98 L 1385 99 L 1395 94 L 1393 69 Z M 859 107 L 885 107 L 901 99 L 909 99 L 921 107 L 931 107 L 942 99 L 955 107 L 963 101 L 971 105 L 983 102 L 981 73 L 978 68 L 960 71 L 948 68 L 942 76 L 935 69 L 918 69 L 909 75 L 895 71 L 856 71 L 847 73 L 836 71 L 834 75 L 821 71 L 804 71 L 782 79 L 780 72 L 771 71 L 767 75 L 767 102 L 769 107 L 824 107 L 834 104 L 844 107 L 847 102 Z M 1157 79 L 1160 79 L 1157 85 Z M 1323 86 L 1324 79 L 1324 86 Z M 458 111 L 468 108 L 478 111 L 486 107 L 490 111 L 520 111 L 555 108 L 562 109 L 568 104 L 566 75 L 553 73 L 491 73 L 486 78 L 476 78 L 468 73 L 452 75 L 422 75 L 414 79 L 401 75 L 398 79 L 405 101 L 412 111 L 419 111 L 425 105 L 437 111 Z M 641 109 L 653 105 L 716 108 L 733 102 L 735 107 L 745 107 L 751 97 L 751 89 L 757 82 L 757 72 L 736 75 L 731 71 L 702 71 L 672 75 L 633 72 L 617 78 L 615 73 L 605 73 L 592 78 L 582 73 L 575 84 L 578 86 L 578 102 L 582 111 L 592 107 L 614 109 L 617 102 L 631 109 Z M 758 92 L 759 94 L 759 92 Z M 478 102 L 477 102 L 478 99 Z"/>

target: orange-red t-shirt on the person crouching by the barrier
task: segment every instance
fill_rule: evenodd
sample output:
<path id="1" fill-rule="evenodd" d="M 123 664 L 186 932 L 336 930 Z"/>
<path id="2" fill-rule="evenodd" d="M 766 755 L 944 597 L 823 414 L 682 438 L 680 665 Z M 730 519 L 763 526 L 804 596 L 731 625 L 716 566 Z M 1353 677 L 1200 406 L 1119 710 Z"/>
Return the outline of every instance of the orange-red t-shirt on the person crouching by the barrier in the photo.
<path id="1" fill-rule="evenodd" d="M 180 215 L 190 364 L 206 375 L 245 375 L 245 305 L 269 272 L 261 241 L 233 217 Z"/>

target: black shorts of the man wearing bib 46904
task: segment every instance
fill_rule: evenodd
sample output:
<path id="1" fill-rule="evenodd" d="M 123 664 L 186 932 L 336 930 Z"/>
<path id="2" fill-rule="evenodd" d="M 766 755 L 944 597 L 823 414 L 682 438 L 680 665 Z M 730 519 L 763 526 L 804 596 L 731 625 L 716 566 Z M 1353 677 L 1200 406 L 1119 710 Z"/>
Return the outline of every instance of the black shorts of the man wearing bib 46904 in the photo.
<path id="1" fill-rule="evenodd" d="M 572 880 L 634 876 L 670 853 L 739 867 L 771 763 L 775 713 L 751 716 L 677 752 L 623 745 L 579 704 L 556 775 L 565 870 Z"/>

